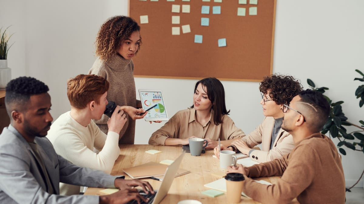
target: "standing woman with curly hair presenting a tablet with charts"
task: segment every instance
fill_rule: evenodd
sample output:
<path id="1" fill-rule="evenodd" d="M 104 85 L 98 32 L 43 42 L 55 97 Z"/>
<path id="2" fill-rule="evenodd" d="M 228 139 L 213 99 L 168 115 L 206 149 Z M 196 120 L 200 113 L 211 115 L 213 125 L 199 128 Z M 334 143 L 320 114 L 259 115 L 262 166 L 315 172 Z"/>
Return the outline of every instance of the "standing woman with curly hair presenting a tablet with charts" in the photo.
<path id="1" fill-rule="evenodd" d="M 120 106 L 142 107 L 136 99 L 134 63 L 131 60 L 142 44 L 139 31 L 140 26 L 130 17 L 114 16 L 101 26 L 96 37 L 96 55 L 99 58 L 88 74 L 102 76 L 110 82 L 107 100 Z M 144 115 L 127 115 L 127 121 L 120 131 L 119 144 L 134 144 L 135 119 L 141 119 Z M 108 119 L 107 115 L 103 115 L 100 120 L 95 120 L 105 134 Z"/>

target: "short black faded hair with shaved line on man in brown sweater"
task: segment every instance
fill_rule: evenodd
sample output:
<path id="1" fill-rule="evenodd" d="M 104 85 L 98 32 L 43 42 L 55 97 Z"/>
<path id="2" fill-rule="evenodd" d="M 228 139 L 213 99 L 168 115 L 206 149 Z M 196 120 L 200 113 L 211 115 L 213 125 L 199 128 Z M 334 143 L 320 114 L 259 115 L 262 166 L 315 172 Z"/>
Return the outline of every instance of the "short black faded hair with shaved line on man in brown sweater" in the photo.
<path id="1" fill-rule="evenodd" d="M 329 102 L 322 93 L 311 89 L 301 91 L 298 95 L 301 97 L 300 102 L 308 103 L 316 109 L 316 111 L 312 108 L 307 109 L 312 112 L 309 114 L 310 119 L 306 119 L 306 121 L 315 132 L 320 132 L 330 115 Z"/>

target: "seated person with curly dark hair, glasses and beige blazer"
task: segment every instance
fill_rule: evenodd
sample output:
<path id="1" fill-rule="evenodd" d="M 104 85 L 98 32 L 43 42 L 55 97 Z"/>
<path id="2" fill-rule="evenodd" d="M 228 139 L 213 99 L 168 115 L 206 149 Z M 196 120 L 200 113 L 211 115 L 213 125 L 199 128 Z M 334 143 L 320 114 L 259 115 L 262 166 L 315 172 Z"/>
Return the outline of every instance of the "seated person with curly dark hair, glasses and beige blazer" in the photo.
<path id="1" fill-rule="evenodd" d="M 292 76 L 272 74 L 260 82 L 262 94 L 260 104 L 265 116 L 263 122 L 250 134 L 233 141 L 230 146 L 221 145 L 221 150 L 232 150 L 249 155 L 256 162 L 268 162 L 288 154 L 293 148 L 293 138 L 282 130 L 283 110 L 292 98 L 302 91 L 302 85 Z M 262 144 L 262 150 L 253 149 Z M 219 158 L 218 147 L 214 154 Z"/>

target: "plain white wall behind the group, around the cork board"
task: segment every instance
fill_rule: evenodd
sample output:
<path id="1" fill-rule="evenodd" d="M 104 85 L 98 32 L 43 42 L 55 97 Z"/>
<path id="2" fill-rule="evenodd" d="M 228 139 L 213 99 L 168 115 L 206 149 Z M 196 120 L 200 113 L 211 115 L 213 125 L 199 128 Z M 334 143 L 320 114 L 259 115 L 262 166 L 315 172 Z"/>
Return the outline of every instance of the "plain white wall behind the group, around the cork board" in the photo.
<path id="1" fill-rule="evenodd" d="M 345 101 L 343 110 L 351 122 L 364 119 L 354 95 L 361 83 L 353 81 L 359 77 L 355 69 L 364 71 L 363 10 L 362 0 L 277 0 L 273 72 L 295 76 L 305 88 L 307 78 L 329 87 L 333 101 Z M 0 0 L 0 26 L 13 25 L 11 31 L 16 32 L 8 55 L 13 78 L 27 75 L 44 81 L 50 87 L 54 118 L 70 109 L 66 81 L 87 73 L 95 60 L 96 33 L 113 15 L 127 15 L 127 0 Z M 169 115 L 191 105 L 195 81 L 135 78 L 137 89 L 163 89 Z M 222 83 L 230 117 L 245 132 L 252 131 L 263 118 L 258 83 Z M 137 121 L 135 143 L 146 144 L 162 125 Z M 363 171 L 364 156 L 347 153 L 343 166 L 349 186 Z"/>

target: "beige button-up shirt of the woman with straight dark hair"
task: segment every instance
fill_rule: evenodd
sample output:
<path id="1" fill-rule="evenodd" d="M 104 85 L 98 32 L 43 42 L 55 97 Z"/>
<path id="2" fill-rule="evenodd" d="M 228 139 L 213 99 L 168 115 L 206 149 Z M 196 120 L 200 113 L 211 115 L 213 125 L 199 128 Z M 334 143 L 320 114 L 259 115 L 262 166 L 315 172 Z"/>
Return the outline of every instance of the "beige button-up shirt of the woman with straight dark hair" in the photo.
<path id="1" fill-rule="evenodd" d="M 228 140 L 245 136 L 245 133 L 237 128 L 234 121 L 227 115 L 222 116 L 222 123 L 214 125 L 213 110 L 210 120 L 201 125 L 195 120 L 195 109 L 178 111 L 169 121 L 155 131 L 149 139 L 149 144 L 165 145 L 167 138 L 186 139 L 191 136 L 198 138 L 210 138 L 212 140 Z"/>

